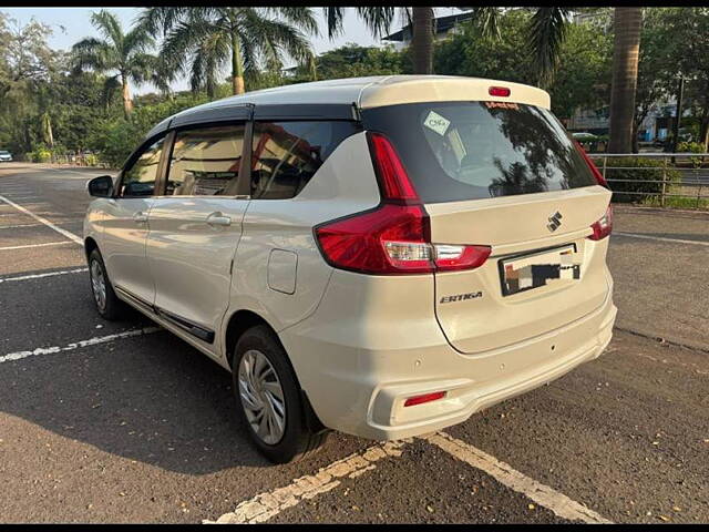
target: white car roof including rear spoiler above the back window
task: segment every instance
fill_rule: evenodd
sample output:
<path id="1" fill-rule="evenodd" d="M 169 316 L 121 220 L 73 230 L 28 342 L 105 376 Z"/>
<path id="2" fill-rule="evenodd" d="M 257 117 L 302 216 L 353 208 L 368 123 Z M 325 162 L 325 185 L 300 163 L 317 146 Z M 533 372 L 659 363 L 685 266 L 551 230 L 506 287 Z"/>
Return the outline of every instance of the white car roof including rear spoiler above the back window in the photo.
<path id="1" fill-rule="evenodd" d="M 510 96 L 492 96 L 490 86 L 508 88 Z M 253 106 L 261 114 L 257 117 L 261 119 L 318 115 L 351 119 L 353 108 L 366 110 L 403 103 L 493 100 L 527 103 L 544 109 L 551 106 L 546 91 L 522 83 L 458 75 L 372 75 L 295 83 L 225 98 L 181 111 L 157 124 L 147 136 L 166 130 L 171 124 L 247 117 Z M 267 111 L 259 111 L 259 108 Z"/>

